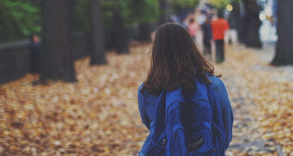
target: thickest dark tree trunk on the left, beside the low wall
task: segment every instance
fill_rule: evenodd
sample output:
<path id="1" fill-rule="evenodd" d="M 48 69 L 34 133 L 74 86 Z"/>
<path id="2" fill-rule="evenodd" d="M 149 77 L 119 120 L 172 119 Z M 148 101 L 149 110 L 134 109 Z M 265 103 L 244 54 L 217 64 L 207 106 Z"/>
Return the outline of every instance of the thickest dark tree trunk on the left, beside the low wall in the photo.
<path id="1" fill-rule="evenodd" d="M 43 0 L 43 52 L 40 79 L 76 81 L 73 56 L 73 0 Z"/>

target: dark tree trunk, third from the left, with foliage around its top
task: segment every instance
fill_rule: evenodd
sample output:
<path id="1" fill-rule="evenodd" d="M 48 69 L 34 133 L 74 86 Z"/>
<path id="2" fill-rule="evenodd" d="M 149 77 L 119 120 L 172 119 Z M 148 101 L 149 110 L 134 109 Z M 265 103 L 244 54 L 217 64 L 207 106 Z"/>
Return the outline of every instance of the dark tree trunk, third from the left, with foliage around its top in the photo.
<path id="1" fill-rule="evenodd" d="M 117 53 L 129 53 L 128 49 L 128 38 L 126 36 L 125 25 L 120 12 L 114 9 L 114 38 L 115 47 L 117 48 Z"/>

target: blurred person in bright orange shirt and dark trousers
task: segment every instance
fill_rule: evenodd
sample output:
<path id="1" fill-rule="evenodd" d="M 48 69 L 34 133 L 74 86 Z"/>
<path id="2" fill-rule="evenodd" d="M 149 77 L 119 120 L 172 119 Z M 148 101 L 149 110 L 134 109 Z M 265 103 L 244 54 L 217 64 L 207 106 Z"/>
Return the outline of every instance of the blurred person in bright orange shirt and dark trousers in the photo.
<path id="1" fill-rule="evenodd" d="M 213 39 L 216 43 L 216 61 L 224 61 L 224 33 L 229 29 L 228 22 L 223 18 L 223 12 L 219 11 L 218 18 L 211 23 Z"/>

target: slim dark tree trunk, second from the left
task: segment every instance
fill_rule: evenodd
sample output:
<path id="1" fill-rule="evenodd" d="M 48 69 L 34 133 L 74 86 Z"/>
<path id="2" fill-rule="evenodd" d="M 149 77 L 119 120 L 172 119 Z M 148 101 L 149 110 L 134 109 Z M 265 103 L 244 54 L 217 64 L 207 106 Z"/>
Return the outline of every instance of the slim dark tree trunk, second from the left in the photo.
<path id="1" fill-rule="evenodd" d="M 104 30 L 100 0 L 90 0 L 91 17 L 91 65 L 106 64 Z"/>

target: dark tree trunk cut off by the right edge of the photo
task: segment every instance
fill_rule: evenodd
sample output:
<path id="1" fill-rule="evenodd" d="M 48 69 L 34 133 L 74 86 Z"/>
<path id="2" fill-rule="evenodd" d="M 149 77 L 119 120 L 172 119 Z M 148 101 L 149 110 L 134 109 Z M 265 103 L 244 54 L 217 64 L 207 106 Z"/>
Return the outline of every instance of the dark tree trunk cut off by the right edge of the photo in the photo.
<path id="1" fill-rule="evenodd" d="M 293 65 L 293 1 L 278 0 L 278 41 L 273 65 Z"/>

